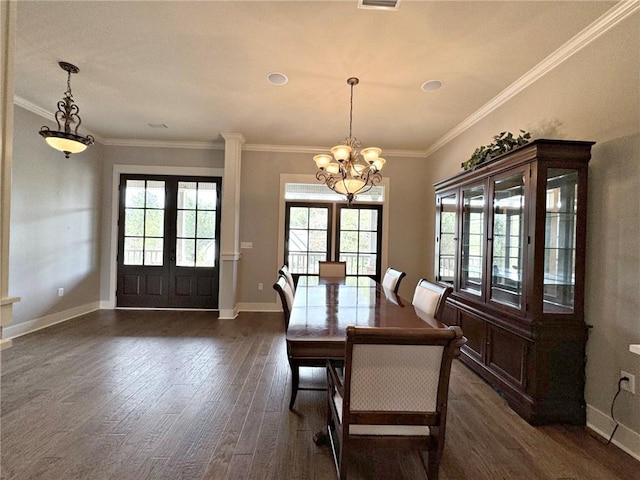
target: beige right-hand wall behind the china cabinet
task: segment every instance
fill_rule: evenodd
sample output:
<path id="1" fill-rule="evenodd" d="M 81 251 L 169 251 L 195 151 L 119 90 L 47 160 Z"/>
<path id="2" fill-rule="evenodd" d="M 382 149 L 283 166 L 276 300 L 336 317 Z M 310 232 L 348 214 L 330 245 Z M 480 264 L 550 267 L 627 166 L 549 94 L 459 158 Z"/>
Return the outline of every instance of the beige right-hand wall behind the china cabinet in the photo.
<path id="1" fill-rule="evenodd" d="M 460 162 L 496 133 L 529 130 L 537 138 L 593 140 L 589 167 L 586 400 L 589 418 L 609 415 L 620 370 L 640 379 L 640 15 L 578 52 L 431 155 L 426 184 L 460 171 Z M 433 198 L 433 189 L 429 193 Z M 433 217 L 426 229 L 434 231 Z M 427 235 L 425 269 L 433 265 Z M 616 418 L 640 432 L 640 395 L 624 393 Z M 611 425 L 600 427 L 610 433 Z M 624 435 L 625 428 L 616 433 Z M 632 432 L 627 430 L 629 438 Z M 635 440 L 637 442 L 637 438 Z M 640 452 L 636 451 L 636 455 Z"/>

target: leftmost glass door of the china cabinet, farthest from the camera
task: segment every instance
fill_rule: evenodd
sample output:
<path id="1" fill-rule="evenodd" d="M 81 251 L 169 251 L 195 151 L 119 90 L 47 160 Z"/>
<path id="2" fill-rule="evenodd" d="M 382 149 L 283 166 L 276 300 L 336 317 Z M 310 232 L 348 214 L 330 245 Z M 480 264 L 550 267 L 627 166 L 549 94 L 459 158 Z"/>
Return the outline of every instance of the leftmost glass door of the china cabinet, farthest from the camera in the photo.
<path id="1" fill-rule="evenodd" d="M 438 265 L 436 280 L 453 285 L 456 272 L 456 194 L 438 199 Z"/>

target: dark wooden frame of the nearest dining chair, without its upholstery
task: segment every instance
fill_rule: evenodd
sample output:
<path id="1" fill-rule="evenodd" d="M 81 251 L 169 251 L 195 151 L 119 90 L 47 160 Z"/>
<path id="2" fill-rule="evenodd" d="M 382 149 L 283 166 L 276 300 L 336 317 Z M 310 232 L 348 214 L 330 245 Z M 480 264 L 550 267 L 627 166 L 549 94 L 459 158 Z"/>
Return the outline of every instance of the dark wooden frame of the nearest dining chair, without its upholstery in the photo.
<path id="1" fill-rule="evenodd" d="M 347 475 L 349 452 L 355 449 L 370 450 L 374 444 L 388 449 L 417 448 L 428 452 L 424 465 L 429 480 L 438 479 L 438 471 L 444 449 L 447 399 L 451 363 L 460 355 L 460 347 L 466 343 L 460 327 L 447 329 L 399 329 L 347 327 L 347 345 L 345 362 L 340 365 L 327 362 L 327 434 L 333 454 L 336 472 L 340 480 Z M 433 411 L 355 411 L 351 404 L 351 379 L 353 347 L 358 344 L 383 345 L 425 345 L 443 346 L 440 364 L 436 408 Z M 340 369 L 344 368 L 344 379 Z M 343 399 L 342 421 L 333 400 L 334 392 Z M 429 427 L 429 435 L 354 435 L 350 433 L 353 425 L 420 425 Z M 422 456 L 421 456 L 422 458 Z M 424 459 L 423 459 L 424 464 Z"/>

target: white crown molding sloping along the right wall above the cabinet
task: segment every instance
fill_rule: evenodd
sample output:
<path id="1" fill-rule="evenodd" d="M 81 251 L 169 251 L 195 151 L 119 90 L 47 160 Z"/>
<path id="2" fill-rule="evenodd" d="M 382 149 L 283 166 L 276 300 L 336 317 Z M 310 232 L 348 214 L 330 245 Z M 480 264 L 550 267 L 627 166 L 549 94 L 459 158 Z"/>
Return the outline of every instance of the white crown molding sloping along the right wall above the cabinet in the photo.
<path id="1" fill-rule="evenodd" d="M 487 115 L 497 110 L 525 88 L 535 83 L 565 60 L 571 58 L 575 53 L 582 50 L 598 37 L 618 25 L 621 21 L 640 10 L 640 2 L 637 0 L 623 0 L 608 10 L 604 15 L 595 20 L 591 25 L 585 27 L 581 32 L 567 41 L 547 58 L 538 63 L 535 67 L 513 82 L 497 96 L 483 105 L 479 110 L 449 130 L 444 136 L 435 141 L 424 153 L 425 157 L 433 154 L 451 140 L 471 128 Z"/>

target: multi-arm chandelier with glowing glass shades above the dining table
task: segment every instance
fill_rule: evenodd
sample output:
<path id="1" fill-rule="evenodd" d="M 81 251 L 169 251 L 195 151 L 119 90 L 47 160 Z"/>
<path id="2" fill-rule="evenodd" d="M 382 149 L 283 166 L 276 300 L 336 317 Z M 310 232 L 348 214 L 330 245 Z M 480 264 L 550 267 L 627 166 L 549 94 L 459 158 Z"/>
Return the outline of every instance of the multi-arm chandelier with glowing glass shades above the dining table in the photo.
<path id="1" fill-rule="evenodd" d="M 347 197 L 351 206 L 358 194 L 369 191 L 382 180 L 380 170 L 386 160 L 380 157 L 382 150 L 377 147 L 360 148 L 360 142 L 352 135 L 353 126 L 353 87 L 360 82 L 355 77 L 347 79 L 351 87 L 351 103 L 349 108 L 349 136 L 331 149 L 331 154 L 313 157 L 318 171 L 316 178 L 324 182 L 334 192 Z"/>

